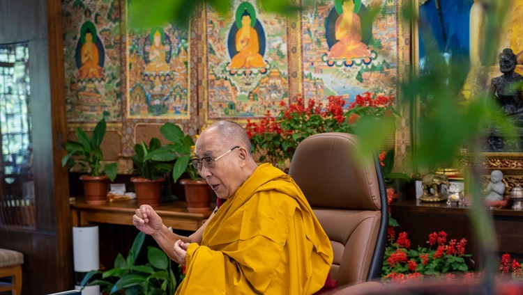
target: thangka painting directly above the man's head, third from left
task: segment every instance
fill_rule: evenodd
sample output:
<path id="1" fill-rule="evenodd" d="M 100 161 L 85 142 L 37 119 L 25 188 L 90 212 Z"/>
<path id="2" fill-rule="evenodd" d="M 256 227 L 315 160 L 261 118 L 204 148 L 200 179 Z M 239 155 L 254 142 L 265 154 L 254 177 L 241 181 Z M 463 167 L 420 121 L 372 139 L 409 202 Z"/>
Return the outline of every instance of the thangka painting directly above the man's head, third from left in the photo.
<path id="1" fill-rule="evenodd" d="M 289 100 L 287 22 L 256 1 L 206 12 L 207 119 L 261 118 Z"/>

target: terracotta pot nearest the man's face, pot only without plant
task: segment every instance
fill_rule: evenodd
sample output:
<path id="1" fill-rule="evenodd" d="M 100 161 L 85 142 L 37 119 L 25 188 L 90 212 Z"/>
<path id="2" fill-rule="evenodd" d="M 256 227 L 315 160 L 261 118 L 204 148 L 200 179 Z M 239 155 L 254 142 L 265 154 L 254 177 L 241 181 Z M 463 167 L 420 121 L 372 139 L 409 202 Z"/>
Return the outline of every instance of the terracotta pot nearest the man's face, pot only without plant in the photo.
<path id="1" fill-rule="evenodd" d="M 206 180 L 180 180 L 185 189 L 187 210 L 192 213 L 204 213 L 211 210 L 211 186 Z"/>

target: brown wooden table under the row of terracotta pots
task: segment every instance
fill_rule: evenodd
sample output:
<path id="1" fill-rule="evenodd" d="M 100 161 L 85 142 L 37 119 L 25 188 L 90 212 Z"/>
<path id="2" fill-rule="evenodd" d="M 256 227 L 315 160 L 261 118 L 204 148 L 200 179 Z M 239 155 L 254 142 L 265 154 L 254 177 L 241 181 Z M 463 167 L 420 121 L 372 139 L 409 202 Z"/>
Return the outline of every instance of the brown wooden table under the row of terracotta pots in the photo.
<path id="1" fill-rule="evenodd" d="M 87 204 L 83 198 L 76 198 L 71 202 L 70 208 L 73 215 L 73 226 L 91 223 L 132 225 L 132 215 L 135 214 L 138 205 L 136 200 L 91 205 Z M 155 210 L 162 217 L 163 223 L 174 230 L 194 232 L 211 216 L 211 210 L 206 213 L 190 213 L 187 211 L 185 202 L 181 201 L 162 203 Z"/>

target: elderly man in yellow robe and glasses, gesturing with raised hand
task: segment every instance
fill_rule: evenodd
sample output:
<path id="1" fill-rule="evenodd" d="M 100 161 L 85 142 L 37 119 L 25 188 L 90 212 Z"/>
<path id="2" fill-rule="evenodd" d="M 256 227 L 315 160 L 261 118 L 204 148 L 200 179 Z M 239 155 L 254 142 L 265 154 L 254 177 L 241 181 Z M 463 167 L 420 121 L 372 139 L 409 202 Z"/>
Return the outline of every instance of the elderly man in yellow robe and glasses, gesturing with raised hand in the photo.
<path id="1" fill-rule="evenodd" d="M 192 160 L 227 200 L 189 237 L 172 233 L 149 205 L 132 223 L 187 273 L 176 294 L 313 294 L 324 286 L 333 250 L 305 196 L 271 164 L 257 166 L 235 122 L 200 134 Z M 220 202 L 218 202 L 220 203 Z"/>

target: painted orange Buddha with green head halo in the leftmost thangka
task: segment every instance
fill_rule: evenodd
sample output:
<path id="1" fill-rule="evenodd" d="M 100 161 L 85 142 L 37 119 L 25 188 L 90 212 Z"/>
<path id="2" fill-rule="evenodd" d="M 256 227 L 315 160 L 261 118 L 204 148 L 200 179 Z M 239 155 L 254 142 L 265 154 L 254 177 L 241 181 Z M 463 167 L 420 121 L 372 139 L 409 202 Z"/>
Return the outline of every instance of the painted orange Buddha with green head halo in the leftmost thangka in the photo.
<path id="1" fill-rule="evenodd" d="M 79 79 L 103 77 L 103 62 L 101 62 L 100 65 L 99 45 L 97 45 L 95 41 L 96 29 L 91 22 L 86 22 L 82 27 L 82 31 L 84 34 L 80 38 L 79 42 L 83 43 L 79 50 L 79 56 L 77 56 L 77 65 L 80 65 L 78 68 L 78 77 Z"/>

